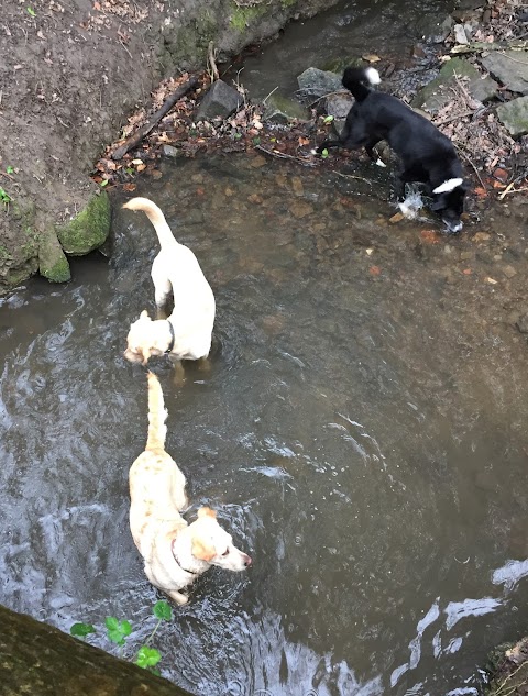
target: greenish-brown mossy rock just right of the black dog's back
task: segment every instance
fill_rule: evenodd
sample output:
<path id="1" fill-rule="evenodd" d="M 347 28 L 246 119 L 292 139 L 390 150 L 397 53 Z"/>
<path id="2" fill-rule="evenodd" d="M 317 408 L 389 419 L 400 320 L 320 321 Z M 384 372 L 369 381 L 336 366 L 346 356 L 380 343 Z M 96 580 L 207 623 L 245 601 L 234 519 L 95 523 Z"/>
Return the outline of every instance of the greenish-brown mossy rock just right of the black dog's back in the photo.
<path id="1" fill-rule="evenodd" d="M 468 77 L 468 91 L 476 101 L 485 102 L 497 93 L 498 85 L 491 77 L 483 77 L 479 70 L 464 58 L 451 58 L 442 66 L 440 74 L 426 85 L 414 98 L 411 106 L 430 113 L 437 113 L 451 99 L 451 88 L 455 85 L 454 75 Z"/>

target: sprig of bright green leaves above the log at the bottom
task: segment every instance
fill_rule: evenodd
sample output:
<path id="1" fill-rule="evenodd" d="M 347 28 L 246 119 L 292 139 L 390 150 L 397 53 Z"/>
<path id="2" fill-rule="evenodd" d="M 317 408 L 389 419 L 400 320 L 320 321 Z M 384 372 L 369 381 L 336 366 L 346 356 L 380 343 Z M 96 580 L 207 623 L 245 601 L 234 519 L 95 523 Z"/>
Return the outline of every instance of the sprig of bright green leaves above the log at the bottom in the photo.
<path id="1" fill-rule="evenodd" d="M 150 643 L 156 634 L 162 621 L 170 621 L 173 618 L 173 610 L 167 601 L 160 600 L 153 606 L 152 614 L 157 619 L 157 622 L 144 644 L 141 645 L 141 648 L 130 659 L 143 670 L 148 670 L 154 674 L 160 674 L 160 671 L 155 667 L 161 661 L 162 654 L 158 650 L 156 650 L 156 648 L 151 648 Z M 107 627 L 107 639 L 119 645 L 120 655 L 123 656 L 123 649 L 127 645 L 127 639 L 132 633 L 131 622 L 127 619 L 119 620 L 113 616 L 109 616 L 105 620 L 105 626 Z M 72 636 L 85 640 L 88 636 L 97 633 L 97 629 L 91 623 L 80 622 L 74 623 L 69 629 L 69 632 Z"/>

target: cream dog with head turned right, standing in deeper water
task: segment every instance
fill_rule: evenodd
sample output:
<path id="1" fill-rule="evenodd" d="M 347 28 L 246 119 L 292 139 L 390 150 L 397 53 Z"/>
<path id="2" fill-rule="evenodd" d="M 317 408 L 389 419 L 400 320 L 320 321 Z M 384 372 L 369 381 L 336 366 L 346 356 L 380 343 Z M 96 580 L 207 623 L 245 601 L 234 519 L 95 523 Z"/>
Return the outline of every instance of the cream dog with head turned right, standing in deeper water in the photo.
<path id="1" fill-rule="evenodd" d="M 251 557 L 233 545 L 209 508 L 191 524 L 179 511 L 187 507 L 185 476 L 165 452 L 167 412 L 157 377 L 148 373 L 148 438 L 130 468 L 130 529 L 153 585 L 186 604 L 180 590 L 211 565 L 243 571 Z"/>

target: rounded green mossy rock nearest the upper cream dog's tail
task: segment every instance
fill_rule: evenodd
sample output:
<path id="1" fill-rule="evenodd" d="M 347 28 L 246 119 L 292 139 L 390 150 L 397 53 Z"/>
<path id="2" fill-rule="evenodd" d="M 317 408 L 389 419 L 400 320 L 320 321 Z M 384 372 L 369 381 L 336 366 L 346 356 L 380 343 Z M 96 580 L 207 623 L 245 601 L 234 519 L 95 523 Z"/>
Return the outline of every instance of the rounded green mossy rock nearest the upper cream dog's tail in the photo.
<path id="1" fill-rule="evenodd" d="M 84 256 L 98 248 L 110 232 L 110 200 L 106 191 L 91 198 L 70 222 L 57 228 L 57 236 L 66 254 Z"/>

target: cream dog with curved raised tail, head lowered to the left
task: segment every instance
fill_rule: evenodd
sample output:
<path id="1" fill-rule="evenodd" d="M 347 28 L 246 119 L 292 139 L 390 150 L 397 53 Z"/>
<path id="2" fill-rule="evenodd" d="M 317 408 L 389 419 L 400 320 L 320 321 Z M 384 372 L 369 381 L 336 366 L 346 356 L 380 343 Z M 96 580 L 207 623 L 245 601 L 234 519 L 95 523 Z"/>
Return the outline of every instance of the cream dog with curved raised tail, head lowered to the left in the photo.
<path id="1" fill-rule="evenodd" d="M 146 365 L 151 355 L 170 354 L 175 360 L 199 360 L 211 350 L 215 296 L 195 254 L 173 236 L 165 216 L 147 198 L 132 198 L 123 208 L 143 210 L 154 225 L 161 251 L 152 264 L 158 319 L 146 310 L 130 327 L 124 356 Z M 174 310 L 160 319 L 170 292 Z"/>

